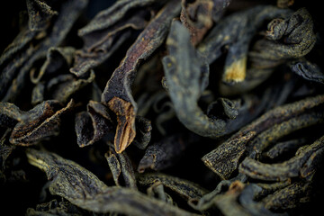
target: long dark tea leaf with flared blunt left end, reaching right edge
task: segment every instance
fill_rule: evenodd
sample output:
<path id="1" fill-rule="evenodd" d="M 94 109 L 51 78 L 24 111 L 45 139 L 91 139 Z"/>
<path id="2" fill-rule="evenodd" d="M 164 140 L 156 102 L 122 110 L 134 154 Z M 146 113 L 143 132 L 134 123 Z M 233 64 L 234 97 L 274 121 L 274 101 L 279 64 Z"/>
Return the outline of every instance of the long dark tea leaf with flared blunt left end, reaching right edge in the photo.
<path id="1" fill-rule="evenodd" d="M 299 102 L 276 107 L 239 130 L 218 148 L 202 157 L 202 161 L 213 172 L 220 175 L 221 178 L 228 179 L 231 173 L 238 167 L 238 160 L 247 149 L 247 143 L 256 138 L 256 135 L 273 127 L 275 124 L 280 124 L 301 115 L 303 112 L 310 112 L 312 109 L 320 107 L 323 103 L 324 95 L 318 95 Z M 244 137 L 246 139 L 242 139 Z M 229 161 L 234 161 L 234 163 L 229 163 L 227 158 L 230 158 Z"/>

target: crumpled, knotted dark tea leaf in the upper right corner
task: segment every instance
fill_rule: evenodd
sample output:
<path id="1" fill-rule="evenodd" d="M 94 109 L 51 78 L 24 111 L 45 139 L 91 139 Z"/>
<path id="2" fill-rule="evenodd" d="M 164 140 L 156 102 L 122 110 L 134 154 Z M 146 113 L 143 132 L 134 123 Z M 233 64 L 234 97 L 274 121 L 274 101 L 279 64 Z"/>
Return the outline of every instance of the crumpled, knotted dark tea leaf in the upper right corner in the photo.
<path id="1" fill-rule="evenodd" d="M 311 14 L 299 9 L 285 20 L 275 19 L 268 24 L 266 39 L 257 40 L 249 53 L 252 67 L 274 67 L 287 58 L 301 58 L 311 51 L 315 41 Z"/>

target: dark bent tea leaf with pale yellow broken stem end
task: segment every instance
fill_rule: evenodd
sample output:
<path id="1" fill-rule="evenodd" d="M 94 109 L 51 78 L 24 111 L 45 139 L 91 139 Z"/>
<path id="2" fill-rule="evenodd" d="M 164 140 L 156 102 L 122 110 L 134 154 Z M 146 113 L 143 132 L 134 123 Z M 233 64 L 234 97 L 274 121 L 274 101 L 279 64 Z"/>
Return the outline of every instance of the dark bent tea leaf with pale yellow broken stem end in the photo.
<path id="1" fill-rule="evenodd" d="M 289 10 L 275 6 L 259 5 L 222 19 L 198 46 L 209 64 L 227 49 L 222 81 L 226 83 L 242 82 L 247 76 L 247 53 L 250 41 L 265 20 L 283 17 Z"/>

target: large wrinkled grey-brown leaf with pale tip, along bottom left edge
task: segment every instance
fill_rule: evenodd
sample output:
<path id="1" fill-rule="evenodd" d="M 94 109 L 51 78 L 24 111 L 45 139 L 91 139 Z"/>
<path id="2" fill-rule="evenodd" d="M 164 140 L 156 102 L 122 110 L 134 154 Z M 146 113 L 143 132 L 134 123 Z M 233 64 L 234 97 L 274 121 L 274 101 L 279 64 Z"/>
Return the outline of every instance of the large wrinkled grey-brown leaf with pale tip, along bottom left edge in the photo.
<path id="1" fill-rule="evenodd" d="M 50 193 L 82 209 L 129 215 L 195 215 L 128 188 L 108 187 L 82 166 L 57 154 L 31 148 L 26 154 L 31 165 L 39 167 L 52 179 Z"/>

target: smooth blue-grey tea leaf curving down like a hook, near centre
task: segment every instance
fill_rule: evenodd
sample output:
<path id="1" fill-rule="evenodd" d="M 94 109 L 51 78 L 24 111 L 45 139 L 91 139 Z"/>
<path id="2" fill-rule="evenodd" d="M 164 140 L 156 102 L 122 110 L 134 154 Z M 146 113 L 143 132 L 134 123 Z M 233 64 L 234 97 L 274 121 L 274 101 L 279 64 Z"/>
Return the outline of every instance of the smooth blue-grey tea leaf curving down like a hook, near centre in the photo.
<path id="1" fill-rule="evenodd" d="M 181 23 L 172 23 L 166 44 L 169 56 L 163 58 L 163 67 L 176 116 L 186 128 L 201 136 L 215 138 L 226 134 L 226 122 L 209 119 L 197 105 L 203 89 L 201 69 L 208 71 L 208 67 L 191 46 L 189 32 Z"/>

